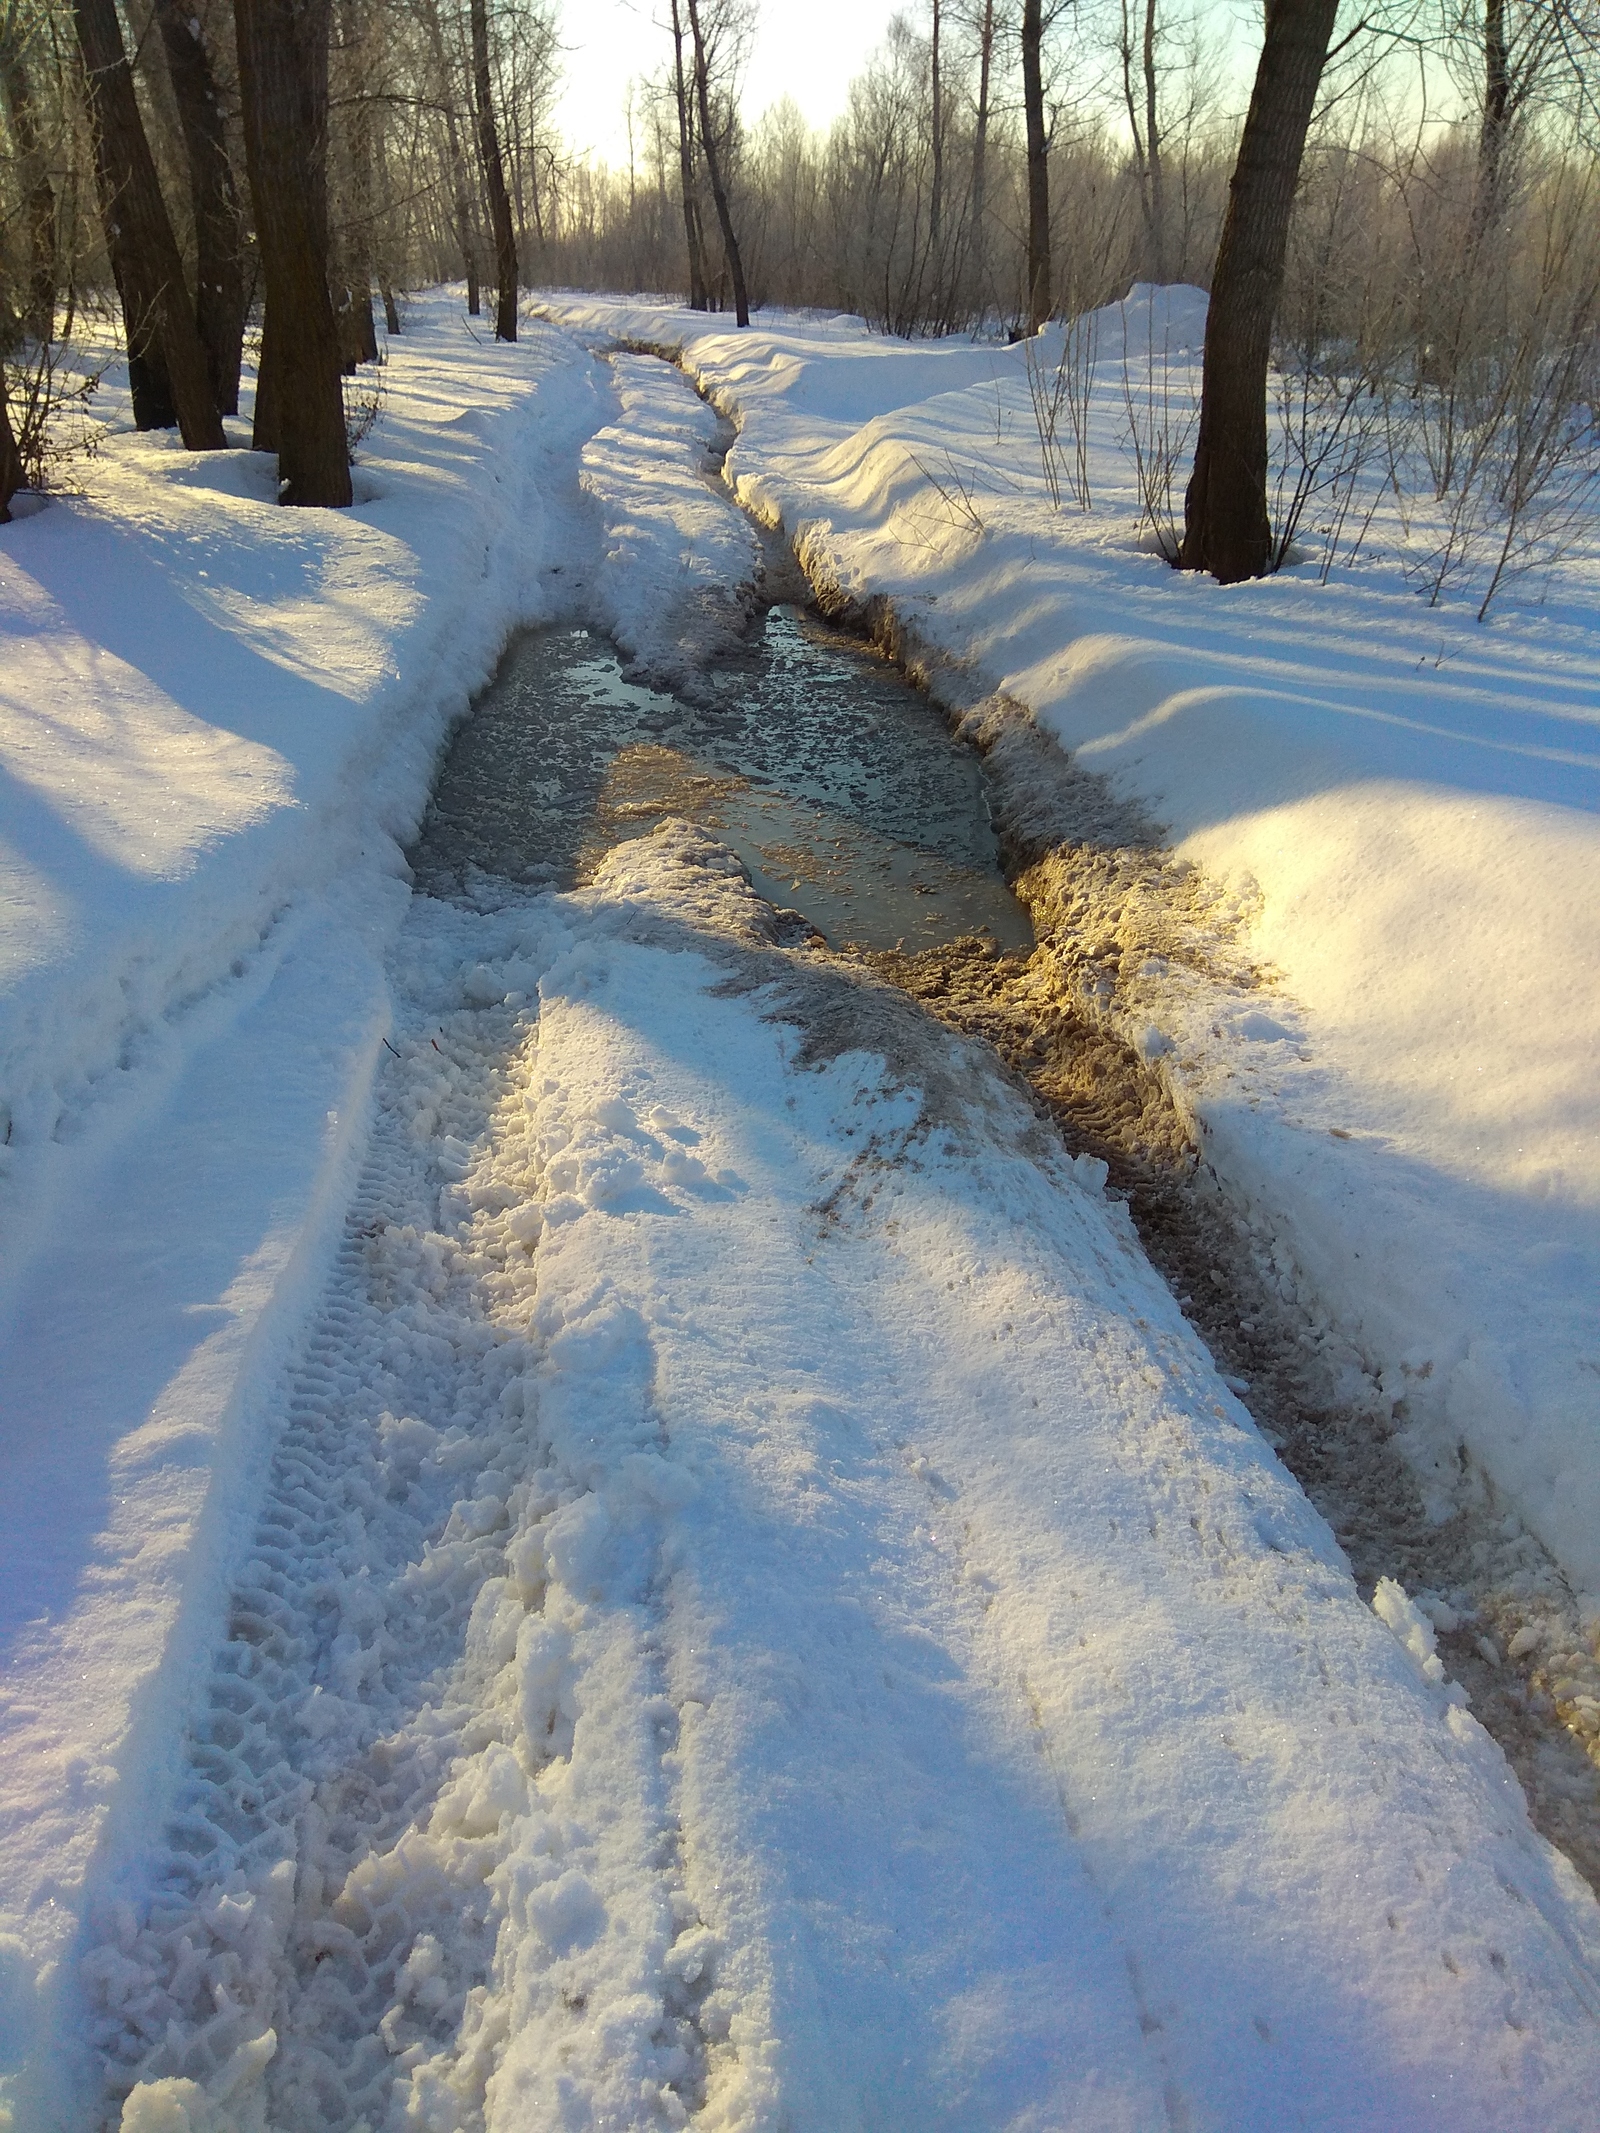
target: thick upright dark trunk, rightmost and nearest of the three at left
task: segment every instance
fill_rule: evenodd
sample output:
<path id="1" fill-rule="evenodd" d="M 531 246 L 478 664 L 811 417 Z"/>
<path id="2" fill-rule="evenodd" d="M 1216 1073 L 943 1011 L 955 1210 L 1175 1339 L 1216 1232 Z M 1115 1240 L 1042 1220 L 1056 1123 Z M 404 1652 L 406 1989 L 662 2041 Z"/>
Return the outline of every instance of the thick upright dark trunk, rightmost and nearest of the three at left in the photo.
<path id="1" fill-rule="evenodd" d="M 235 30 L 279 495 L 346 506 L 350 448 L 329 299 L 329 0 L 235 0 Z"/>

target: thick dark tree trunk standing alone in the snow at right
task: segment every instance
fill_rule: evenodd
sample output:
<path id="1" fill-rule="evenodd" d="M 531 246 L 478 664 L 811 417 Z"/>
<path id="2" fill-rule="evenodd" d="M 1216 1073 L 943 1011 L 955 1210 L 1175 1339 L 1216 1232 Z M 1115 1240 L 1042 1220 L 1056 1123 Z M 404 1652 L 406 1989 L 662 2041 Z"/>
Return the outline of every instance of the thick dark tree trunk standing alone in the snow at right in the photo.
<path id="1" fill-rule="evenodd" d="M 1271 0 L 1205 314 L 1195 471 L 1184 497 L 1182 570 L 1222 584 L 1271 567 L 1267 358 L 1284 286 L 1289 213 L 1327 62 L 1338 0 Z"/>

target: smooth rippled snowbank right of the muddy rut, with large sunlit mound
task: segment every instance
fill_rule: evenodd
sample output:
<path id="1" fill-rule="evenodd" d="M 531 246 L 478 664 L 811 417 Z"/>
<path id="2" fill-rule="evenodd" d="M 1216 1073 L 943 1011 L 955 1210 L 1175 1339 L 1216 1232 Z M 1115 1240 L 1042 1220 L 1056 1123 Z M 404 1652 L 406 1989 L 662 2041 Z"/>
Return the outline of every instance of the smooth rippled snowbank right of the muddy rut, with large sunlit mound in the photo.
<path id="1" fill-rule="evenodd" d="M 1193 405 L 1195 290 L 1097 316 L 1090 514 L 1047 506 L 1022 350 L 548 311 L 681 350 L 738 424 L 738 495 L 815 578 L 892 602 L 937 691 L 1026 706 L 1254 909 L 1280 1037 L 1214 1028 L 1182 985 L 1146 1024 L 1210 1165 L 1365 1357 L 1440 1510 L 1466 1444 L 1600 1593 L 1596 557 L 1487 629 L 1423 606 L 1382 516 L 1327 584 L 1175 578 L 1135 535 L 1126 390 Z"/>

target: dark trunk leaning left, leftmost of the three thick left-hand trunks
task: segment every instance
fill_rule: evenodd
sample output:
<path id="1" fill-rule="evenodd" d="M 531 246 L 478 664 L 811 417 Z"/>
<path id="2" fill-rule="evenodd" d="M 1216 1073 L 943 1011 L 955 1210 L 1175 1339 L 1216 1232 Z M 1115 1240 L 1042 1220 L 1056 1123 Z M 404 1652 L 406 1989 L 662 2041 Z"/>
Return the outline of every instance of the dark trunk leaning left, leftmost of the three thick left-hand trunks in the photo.
<path id="1" fill-rule="evenodd" d="M 211 397 L 205 348 L 194 326 L 183 260 L 145 139 L 145 122 L 139 117 L 115 0 L 73 0 L 73 19 L 87 77 L 94 175 L 107 247 L 122 292 L 128 369 L 132 373 L 134 365 L 160 363 L 183 444 L 190 452 L 220 452 L 228 439 Z M 139 397 L 134 397 L 134 420 L 139 420 Z"/>

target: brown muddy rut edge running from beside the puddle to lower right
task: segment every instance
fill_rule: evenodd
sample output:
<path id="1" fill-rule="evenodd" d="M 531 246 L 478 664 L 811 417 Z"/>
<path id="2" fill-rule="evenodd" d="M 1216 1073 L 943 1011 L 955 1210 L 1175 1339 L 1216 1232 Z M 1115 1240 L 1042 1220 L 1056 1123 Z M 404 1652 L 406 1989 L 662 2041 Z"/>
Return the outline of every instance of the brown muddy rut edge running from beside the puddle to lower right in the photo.
<path id="1" fill-rule="evenodd" d="M 966 939 L 862 956 L 949 1026 L 986 1039 L 1073 1154 L 1107 1165 L 1143 1248 L 1278 1457 L 1333 1527 L 1363 1595 L 1395 1578 L 1517 1773 L 1534 1826 L 1600 1894 L 1600 1621 L 1489 1478 L 1461 1455 L 1434 1514 L 1395 1436 L 1404 1401 L 1282 1239 L 1205 1158 L 1203 1124 L 1154 1039 L 1175 992 L 1216 1020 L 1269 1000 L 1252 909 L 1180 860 L 1161 828 L 1079 770 L 1005 697 L 930 653 L 890 602 L 849 599 L 800 544 L 821 612 L 928 689 L 977 747 L 1030 953 Z"/>

